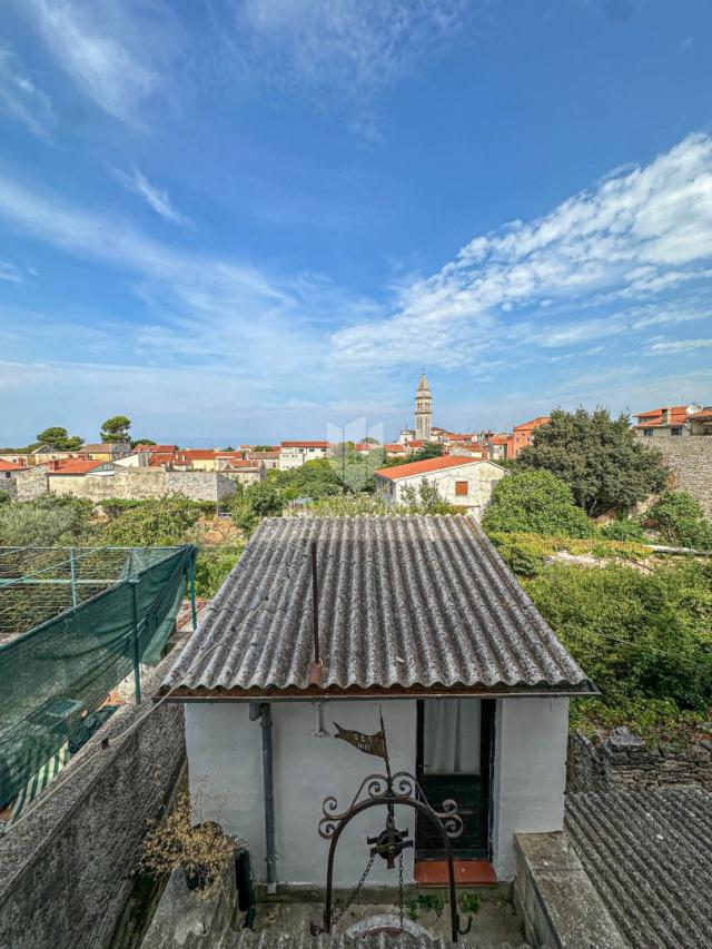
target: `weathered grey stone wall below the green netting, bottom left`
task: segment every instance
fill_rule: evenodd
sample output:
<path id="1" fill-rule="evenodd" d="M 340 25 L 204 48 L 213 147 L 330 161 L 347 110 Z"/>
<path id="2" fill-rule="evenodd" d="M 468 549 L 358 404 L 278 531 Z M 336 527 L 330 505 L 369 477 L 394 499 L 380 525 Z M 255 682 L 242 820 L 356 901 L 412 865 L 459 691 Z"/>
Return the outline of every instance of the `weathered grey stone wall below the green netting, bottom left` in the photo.
<path id="1" fill-rule="evenodd" d="M 145 680 L 145 694 L 174 661 L 167 656 Z M 69 763 L 65 773 L 76 769 L 76 777 L 59 790 L 50 785 L 28 818 L 0 837 L 3 949 L 110 945 L 140 841 L 164 812 L 185 762 L 182 706 L 166 704 L 141 718 L 147 708 L 119 709 Z"/>

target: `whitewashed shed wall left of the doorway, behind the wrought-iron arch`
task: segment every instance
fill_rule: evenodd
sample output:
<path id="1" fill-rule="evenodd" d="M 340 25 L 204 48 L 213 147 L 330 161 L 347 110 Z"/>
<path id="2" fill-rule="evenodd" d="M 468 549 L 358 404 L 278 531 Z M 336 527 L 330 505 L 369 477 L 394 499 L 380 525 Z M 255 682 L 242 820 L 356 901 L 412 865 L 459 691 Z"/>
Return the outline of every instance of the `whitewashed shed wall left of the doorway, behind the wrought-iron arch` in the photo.
<path id="1" fill-rule="evenodd" d="M 415 771 L 416 703 L 382 703 L 393 771 Z M 378 731 L 378 702 L 365 700 L 323 705 L 325 738 L 315 738 L 316 711 L 310 702 L 273 702 L 274 783 L 277 878 L 280 882 L 324 886 L 328 844 L 318 836 L 322 801 L 335 794 L 346 809 L 359 783 L 383 773 L 378 758 L 333 738 L 332 722 L 367 733 Z M 249 721 L 247 703 L 186 705 L 186 745 L 194 795 L 201 797 L 201 817 L 219 817 L 231 833 L 247 838 L 253 869 L 265 880 L 261 726 Z M 201 790 L 200 790 L 201 789 Z M 366 837 L 383 830 L 385 808 L 356 818 L 338 844 L 335 882 L 353 886 L 368 859 Z M 415 831 L 415 813 L 396 811 L 397 827 Z M 413 850 L 404 852 L 404 876 L 413 880 Z M 377 860 L 369 881 L 397 884 L 396 871 Z"/>

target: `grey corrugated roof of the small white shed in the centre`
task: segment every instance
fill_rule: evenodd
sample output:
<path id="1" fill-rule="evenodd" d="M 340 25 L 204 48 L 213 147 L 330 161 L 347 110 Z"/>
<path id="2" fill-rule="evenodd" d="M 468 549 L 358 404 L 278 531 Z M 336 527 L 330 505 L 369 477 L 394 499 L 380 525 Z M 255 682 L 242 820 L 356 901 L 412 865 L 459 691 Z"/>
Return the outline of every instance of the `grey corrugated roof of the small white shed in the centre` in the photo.
<path id="1" fill-rule="evenodd" d="M 265 518 L 161 692 L 304 690 L 312 542 L 323 689 L 593 691 L 472 518 L 419 515 Z"/>

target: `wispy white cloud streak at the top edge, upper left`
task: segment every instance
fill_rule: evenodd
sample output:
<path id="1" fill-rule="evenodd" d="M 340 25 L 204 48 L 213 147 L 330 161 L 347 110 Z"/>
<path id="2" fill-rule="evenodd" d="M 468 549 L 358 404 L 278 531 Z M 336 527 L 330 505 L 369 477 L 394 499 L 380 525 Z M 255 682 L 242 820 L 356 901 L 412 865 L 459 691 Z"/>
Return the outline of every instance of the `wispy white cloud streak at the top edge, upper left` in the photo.
<path id="1" fill-rule="evenodd" d="M 138 122 L 138 109 L 161 85 L 160 61 L 172 30 L 169 8 L 136 0 L 32 0 L 30 13 L 58 65 L 97 106 Z"/>

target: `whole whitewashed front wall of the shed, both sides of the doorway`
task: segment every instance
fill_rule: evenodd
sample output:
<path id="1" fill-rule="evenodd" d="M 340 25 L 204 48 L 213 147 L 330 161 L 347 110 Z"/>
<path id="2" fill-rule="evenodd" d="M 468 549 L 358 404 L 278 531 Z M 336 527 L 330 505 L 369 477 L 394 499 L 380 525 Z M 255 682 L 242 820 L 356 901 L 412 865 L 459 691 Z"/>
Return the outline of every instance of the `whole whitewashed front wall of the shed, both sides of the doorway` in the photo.
<path id="1" fill-rule="evenodd" d="M 315 738 L 310 702 L 273 702 L 277 878 L 280 882 L 324 886 L 327 842 L 317 833 L 322 801 L 333 793 L 343 809 L 382 762 L 333 737 L 333 722 L 373 733 L 378 702 L 323 703 L 325 738 Z M 416 703 L 380 703 L 392 768 L 415 772 Z M 493 862 L 497 877 L 514 877 L 514 834 L 561 830 L 566 778 L 567 699 L 500 699 L 495 714 L 493 781 Z M 258 880 L 265 879 L 261 728 L 249 721 L 247 703 L 186 705 L 186 747 L 194 800 L 202 799 L 201 819 L 215 818 L 246 838 Z M 366 837 L 383 829 L 385 809 L 356 818 L 338 846 L 335 882 L 353 886 L 368 857 Z M 415 814 L 399 809 L 398 828 L 415 832 Z M 405 851 L 406 881 L 413 879 L 413 850 Z M 397 877 L 378 860 L 369 880 L 394 886 Z"/>

